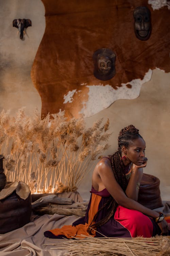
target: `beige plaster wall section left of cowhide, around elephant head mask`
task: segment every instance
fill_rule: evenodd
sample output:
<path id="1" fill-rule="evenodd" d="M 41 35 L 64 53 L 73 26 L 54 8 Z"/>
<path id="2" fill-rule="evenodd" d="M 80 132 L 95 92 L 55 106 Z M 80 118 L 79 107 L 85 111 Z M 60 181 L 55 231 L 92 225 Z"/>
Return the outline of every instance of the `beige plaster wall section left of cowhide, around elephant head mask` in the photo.
<path id="1" fill-rule="evenodd" d="M 15 113 L 22 106 L 31 114 L 41 98 L 33 86 L 30 72 L 45 30 L 44 5 L 40 0 L 0 1 L 0 111 Z M 13 19 L 29 18 L 24 40 L 17 35 Z"/>

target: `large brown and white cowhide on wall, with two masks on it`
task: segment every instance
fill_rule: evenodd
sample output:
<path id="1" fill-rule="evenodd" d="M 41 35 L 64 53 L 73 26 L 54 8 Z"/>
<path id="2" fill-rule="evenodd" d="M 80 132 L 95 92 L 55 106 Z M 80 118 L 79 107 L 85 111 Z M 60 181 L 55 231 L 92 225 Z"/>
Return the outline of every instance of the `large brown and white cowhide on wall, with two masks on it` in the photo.
<path id="1" fill-rule="evenodd" d="M 168 4 L 42 2 L 46 29 L 31 71 L 42 116 L 60 110 L 68 117 L 91 116 L 117 99 L 138 97 L 153 69 L 170 72 Z"/>

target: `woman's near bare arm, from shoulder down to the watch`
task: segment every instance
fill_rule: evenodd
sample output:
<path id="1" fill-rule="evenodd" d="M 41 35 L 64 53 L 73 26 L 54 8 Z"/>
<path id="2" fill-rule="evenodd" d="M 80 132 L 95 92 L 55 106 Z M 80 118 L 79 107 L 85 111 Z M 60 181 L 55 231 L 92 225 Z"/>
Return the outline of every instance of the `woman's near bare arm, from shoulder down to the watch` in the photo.
<path id="1" fill-rule="evenodd" d="M 102 159 L 97 164 L 95 169 L 100 176 L 102 184 L 118 204 L 129 209 L 140 211 L 153 218 L 157 218 L 159 216 L 159 213 L 156 211 L 146 208 L 125 195 L 123 189 L 119 186 L 115 179 L 115 175 L 108 159 Z"/>

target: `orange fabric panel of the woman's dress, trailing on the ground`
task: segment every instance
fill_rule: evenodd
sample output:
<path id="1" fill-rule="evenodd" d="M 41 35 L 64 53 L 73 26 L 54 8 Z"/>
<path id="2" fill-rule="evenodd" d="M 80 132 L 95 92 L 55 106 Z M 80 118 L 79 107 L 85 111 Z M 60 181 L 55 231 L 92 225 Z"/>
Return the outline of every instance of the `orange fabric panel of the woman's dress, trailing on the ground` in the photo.
<path id="1" fill-rule="evenodd" d="M 86 223 L 85 225 L 79 224 L 75 227 L 71 226 L 71 225 L 65 225 L 62 228 L 55 228 L 55 229 L 52 229 L 49 231 L 52 232 L 55 236 L 64 235 L 67 238 L 73 238 L 75 236 L 77 238 L 79 238 L 79 236 L 81 236 L 81 234 L 88 236 L 89 233 L 87 232 L 87 229 L 88 229 L 89 225 L 91 224 L 92 219 L 94 218 L 95 214 L 98 211 L 100 200 L 101 200 L 101 196 L 92 194 L 91 205 L 90 205 L 90 209 L 88 212 L 88 223 Z M 95 236 L 95 234 L 96 234 L 96 232 L 94 230 L 92 230 L 92 236 Z"/>

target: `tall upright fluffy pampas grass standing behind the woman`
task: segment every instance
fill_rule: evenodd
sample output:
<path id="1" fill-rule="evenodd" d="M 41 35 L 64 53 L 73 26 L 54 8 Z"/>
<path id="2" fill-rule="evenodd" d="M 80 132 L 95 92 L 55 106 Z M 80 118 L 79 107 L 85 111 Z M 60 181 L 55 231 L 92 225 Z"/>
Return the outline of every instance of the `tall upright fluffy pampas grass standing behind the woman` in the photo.
<path id="1" fill-rule="evenodd" d="M 86 129 L 84 118 L 68 120 L 64 112 L 41 119 L 20 109 L 0 113 L 0 154 L 8 181 L 27 183 L 32 193 L 76 191 L 90 171 L 91 161 L 103 153 L 111 136 L 109 120 Z M 90 167 L 89 167 L 90 166 Z"/>

